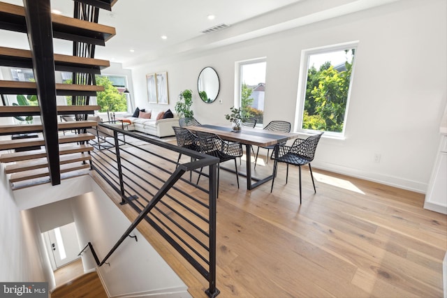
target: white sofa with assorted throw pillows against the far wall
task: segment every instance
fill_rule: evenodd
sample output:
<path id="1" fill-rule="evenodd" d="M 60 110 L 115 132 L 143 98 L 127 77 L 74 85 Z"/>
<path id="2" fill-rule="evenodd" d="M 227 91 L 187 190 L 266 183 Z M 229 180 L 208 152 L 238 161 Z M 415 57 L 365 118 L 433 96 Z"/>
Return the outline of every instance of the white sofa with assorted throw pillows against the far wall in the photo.
<path id="1" fill-rule="evenodd" d="M 155 135 L 157 137 L 168 137 L 175 135 L 173 126 L 179 126 L 179 118 L 175 112 L 174 118 L 166 118 L 156 120 L 156 117 L 163 110 L 146 110 L 151 113 L 151 119 L 132 117 L 132 114 L 124 115 L 125 121 L 130 121 L 127 129 L 129 131 L 138 131 L 140 133 L 147 133 L 148 135 Z"/>

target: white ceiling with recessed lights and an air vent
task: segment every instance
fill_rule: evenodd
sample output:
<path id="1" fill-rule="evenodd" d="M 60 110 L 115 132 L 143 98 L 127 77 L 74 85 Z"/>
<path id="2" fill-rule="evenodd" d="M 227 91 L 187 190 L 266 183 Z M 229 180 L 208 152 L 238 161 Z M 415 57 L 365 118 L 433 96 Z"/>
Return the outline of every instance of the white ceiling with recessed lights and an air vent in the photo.
<path id="1" fill-rule="evenodd" d="M 96 58 L 132 66 L 166 59 L 293 27 L 346 15 L 399 0 L 118 0 L 112 11 L 101 10 L 99 23 L 117 35 Z M 3 2 L 23 5 L 22 0 Z M 72 0 L 52 0 L 52 8 L 73 16 Z M 215 15 L 208 20 L 207 15 Z M 230 27 L 202 33 L 219 24 Z M 166 35 L 166 40 L 161 36 Z M 0 46 L 28 49 L 23 33 L 0 31 Z M 54 40 L 54 52 L 71 54 L 71 43 Z M 134 52 L 131 52 L 133 50 Z"/>

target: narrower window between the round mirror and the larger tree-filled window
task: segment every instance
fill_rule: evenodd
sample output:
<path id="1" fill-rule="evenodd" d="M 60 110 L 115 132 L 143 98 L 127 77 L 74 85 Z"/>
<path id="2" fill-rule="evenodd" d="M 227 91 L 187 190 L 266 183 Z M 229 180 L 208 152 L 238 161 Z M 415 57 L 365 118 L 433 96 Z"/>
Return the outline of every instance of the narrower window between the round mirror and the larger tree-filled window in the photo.
<path id="1" fill-rule="evenodd" d="M 239 100 L 244 112 L 256 119 L 256 124 L 263 124 L 265 94 L 265 59 L 243 61 L 239 63 Z"/>

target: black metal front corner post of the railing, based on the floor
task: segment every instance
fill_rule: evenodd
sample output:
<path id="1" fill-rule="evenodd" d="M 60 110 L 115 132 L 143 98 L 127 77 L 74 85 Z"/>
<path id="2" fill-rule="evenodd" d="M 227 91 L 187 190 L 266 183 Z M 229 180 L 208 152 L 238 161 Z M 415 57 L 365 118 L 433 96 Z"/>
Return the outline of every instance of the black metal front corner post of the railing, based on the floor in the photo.
<path id="1" fill-rule="evenodd" d="M 217 163 L 210 165 L 210 288 L 205 291 L 208 297 L 217 297 L 216 288 L 216 214 L 217 214 Z"/>

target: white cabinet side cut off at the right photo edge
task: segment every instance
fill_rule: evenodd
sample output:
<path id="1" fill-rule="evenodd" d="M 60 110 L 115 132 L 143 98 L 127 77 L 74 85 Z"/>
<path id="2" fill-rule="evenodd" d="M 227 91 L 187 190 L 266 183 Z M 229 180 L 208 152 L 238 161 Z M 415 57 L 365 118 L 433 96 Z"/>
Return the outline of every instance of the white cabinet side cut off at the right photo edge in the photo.
<path id="1" fill-rule="evenodd" d="M 447 135 L 441 137 L 424 208 L 447 214 Z"/>

